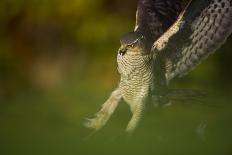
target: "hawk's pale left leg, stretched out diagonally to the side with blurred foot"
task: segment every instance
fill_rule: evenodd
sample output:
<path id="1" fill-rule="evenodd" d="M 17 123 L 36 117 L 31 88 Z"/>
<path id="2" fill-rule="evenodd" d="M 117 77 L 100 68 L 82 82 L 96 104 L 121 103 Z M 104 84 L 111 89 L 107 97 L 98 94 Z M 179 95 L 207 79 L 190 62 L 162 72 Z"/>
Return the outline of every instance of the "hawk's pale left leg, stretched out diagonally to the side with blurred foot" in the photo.
<path id="1" fill-rule="evenodd" d="M 112 92 L 108 100 L 102 105 L 101 110 L 95 114 L 95 117 L 92 119 L 87 119 L 85 126 L 95 130 L 101 129 L 109 120 L 110 116 L 114 113 L 121 98 L 121 92 L 117 88 Z"/>

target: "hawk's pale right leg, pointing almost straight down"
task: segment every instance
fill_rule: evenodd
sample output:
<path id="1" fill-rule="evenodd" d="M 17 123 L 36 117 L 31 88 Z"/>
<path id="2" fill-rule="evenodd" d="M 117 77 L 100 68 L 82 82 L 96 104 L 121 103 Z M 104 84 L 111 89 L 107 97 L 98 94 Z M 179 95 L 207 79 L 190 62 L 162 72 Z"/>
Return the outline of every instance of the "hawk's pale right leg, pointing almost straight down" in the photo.
<path id="1" fill-rule="evenodd" d="M 132 118 L 127 125 L 126 132 L 132 133 L 135 130 L 138 122 L 141 119 L 144 105 L 145 105 L 145 99 L 141 99 L 139 102 L 136 102 L 136 105 L 130 105 Z"/>

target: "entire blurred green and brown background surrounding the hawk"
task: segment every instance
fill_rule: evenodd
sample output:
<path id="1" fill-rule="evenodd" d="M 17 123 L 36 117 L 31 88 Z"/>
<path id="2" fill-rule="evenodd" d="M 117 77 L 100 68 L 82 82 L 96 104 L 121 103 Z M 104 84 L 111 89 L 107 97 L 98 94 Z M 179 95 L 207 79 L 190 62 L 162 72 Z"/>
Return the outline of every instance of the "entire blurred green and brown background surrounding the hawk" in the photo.
<path id="1" fill-rule="evenodd" d="M 0 155 L 232 154 L 232 38 L 172 88 L 204 101 L 147 105 L 132 136 L 122 102 L 88 136 L 86 117 L 117 86 L 119 38 L 133 29 L 134 0 L 0 1 Z"/>

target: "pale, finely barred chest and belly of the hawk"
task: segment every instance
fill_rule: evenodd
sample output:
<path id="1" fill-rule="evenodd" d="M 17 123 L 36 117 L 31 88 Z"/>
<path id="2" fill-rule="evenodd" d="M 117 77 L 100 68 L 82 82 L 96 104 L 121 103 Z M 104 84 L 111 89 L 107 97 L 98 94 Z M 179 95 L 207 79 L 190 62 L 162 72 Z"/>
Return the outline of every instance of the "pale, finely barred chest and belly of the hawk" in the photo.
<path id="1" fill-rule="evenodd" d="M 129 104 L 136 104 L 139 100 L 147 97 L 152 85 L 150 60 L 134 59 L 118 58 L 118 70 L 121 74 L 119 88 L 124 100 Z"/>

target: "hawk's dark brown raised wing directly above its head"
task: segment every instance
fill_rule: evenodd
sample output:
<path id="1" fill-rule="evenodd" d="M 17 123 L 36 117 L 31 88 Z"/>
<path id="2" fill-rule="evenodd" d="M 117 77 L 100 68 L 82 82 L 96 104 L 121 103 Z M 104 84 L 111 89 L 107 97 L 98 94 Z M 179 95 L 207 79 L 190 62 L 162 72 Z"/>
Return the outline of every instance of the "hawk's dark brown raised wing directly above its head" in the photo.
<path id="1" fill-rule="evenodd" d="M 154 41 L 175 22 L 180 12 L 180 0 L 139 0 L 135 31 L 150 35 Z"/>

